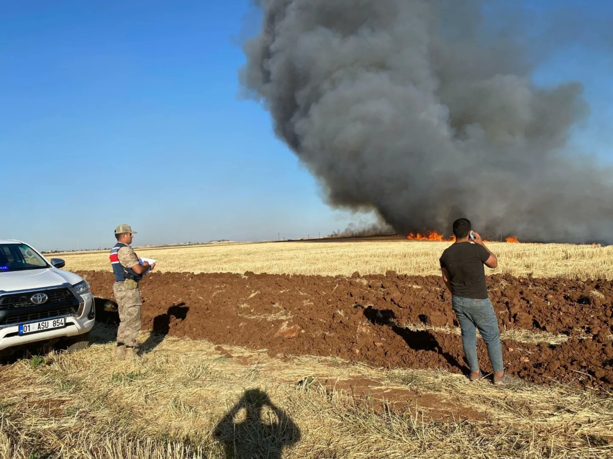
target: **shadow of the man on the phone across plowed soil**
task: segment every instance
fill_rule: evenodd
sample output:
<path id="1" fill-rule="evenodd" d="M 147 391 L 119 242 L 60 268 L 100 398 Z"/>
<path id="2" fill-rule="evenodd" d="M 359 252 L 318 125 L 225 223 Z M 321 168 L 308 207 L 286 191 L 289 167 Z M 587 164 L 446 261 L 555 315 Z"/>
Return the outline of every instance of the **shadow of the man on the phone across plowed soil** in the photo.
<path id="1" fill-rule="evenodd" d="M 409 328 L 400 327 L 395 322 L 396 316 L 394 311 L 390 309 L 376 309 L 370 305 L 366 307 L 356 305 L 356 307 L 364 309 L 364 317 L 366 317 L 371 324 L 384 325 L 392 328 L 394 333 L 405 340 L 405 343 L 408 344 L 411 349 L 415 351 L 436 352 L 442 355 L 449 365 L 459 368 L 462 373 L 468 374 L 468 368 L 466 368 L 465 365 L 458 362 L 449 352 L 443 351 L 443 347 L 438 343 L 438 340 L 436 340 L 432 332 L 428 330 L 409 330 Z"/>

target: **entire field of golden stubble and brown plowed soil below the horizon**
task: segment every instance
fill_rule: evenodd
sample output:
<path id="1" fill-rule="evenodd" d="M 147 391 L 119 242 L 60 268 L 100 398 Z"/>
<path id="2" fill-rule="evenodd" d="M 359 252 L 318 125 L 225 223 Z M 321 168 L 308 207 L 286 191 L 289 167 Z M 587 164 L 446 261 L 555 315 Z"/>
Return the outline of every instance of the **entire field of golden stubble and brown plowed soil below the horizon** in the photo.
<path id="1" fill-rule="evenodd" d="M 4 366 L 0 453 L 611 457 L 611 248 L 489 245 L 504 359 L 524 379 L 495 388 L 463 374 L 438 275 L 448 245 L 137 248 L 159 263 L 142 281 L 137 362 L 111 357 L 107 253 L 53 254 L 97 297 L 93 346 Z M 479 356 L 489 370 L 481 342 Z"/>

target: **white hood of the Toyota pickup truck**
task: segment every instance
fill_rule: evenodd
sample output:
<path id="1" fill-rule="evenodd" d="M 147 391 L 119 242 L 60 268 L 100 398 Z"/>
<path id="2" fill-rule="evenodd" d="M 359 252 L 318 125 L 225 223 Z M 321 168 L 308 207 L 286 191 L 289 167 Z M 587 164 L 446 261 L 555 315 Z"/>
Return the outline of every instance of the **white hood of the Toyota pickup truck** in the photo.
<path id="1" fill-rule="evenodd" d="M 40 270 L 9 271 L 0 273 L 0 292 L 17 290 L 45 289 L 61 285 L 74 285 L 83 280 L 81 276 L 58 268 Z"/>

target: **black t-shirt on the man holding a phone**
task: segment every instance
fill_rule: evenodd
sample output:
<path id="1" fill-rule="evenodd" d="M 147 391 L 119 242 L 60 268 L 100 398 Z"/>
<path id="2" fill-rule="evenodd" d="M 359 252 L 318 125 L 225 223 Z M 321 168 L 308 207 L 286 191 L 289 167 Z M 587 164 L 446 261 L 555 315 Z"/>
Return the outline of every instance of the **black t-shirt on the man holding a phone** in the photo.
<path id="1" fill-rule="evenodd" d="M 451 293 L 457 297 L 485 300 L 487 284 L 483 264 L 490 257 L 484 246 L 460 242 L 441 255 L 441 268 L 447 268 Z"/>

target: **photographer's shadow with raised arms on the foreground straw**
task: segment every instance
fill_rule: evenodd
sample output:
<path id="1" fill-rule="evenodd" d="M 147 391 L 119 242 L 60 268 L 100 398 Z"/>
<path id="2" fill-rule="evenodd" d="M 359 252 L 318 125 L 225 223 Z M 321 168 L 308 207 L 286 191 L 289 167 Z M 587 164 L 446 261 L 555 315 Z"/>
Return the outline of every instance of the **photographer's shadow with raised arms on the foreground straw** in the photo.
<path id="1" fill-rule="evenodd" d="M 284 447 L 301 436 L 300 428 L 259 389 L 246 390 L 213 434 L 223 443 L 226 457 L 234 459 L 281 459 Z"/>

